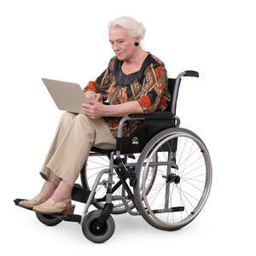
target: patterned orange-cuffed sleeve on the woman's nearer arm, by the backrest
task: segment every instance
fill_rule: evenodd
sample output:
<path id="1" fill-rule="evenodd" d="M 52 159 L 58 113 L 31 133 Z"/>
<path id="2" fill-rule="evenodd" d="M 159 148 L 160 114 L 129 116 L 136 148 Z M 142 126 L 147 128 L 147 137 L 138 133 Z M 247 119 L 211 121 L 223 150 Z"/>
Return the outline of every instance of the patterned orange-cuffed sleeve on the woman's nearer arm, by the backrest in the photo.
<path id="1" fill-rule="evenodd" d="M 137 102 L 143 108 L 143 113 L 153 113 L 163 103 L 163 92 L 167 87 L 167 72 L 164 65 L 151 65 L 145 70 L 145 78 L 141 96 Z"/>

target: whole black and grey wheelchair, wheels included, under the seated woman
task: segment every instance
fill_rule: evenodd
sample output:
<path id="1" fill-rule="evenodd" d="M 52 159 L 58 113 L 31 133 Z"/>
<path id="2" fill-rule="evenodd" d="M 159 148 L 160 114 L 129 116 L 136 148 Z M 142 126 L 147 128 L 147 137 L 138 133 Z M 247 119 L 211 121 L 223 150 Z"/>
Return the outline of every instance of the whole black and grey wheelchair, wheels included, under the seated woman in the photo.
<path id="1" fill-rule="evenodd" d="M 115 230 L 112 215 L 142 216 L 160 230 L 178 230 L 201 212 L 212 184 L 212 164 L 205 143 L 193 131 L 180 128 L 176 115 L 182 77 L 199 77 L 189 70 L 168 79 L 172 100 L 165 112 L 134 113 L 119 122 L 116 148 L 91 148 L 73 186 L 72 199 L 84 203 L 79 214 L 41 214 L 43 224 L 81 224 L 90 241 L 107 241 Z M 130 120 L 141 125 L 129 137 L 122 127 Z M 15 205 L 24 199 L 16 199 Z M 89 212 L 93 205 L 96 210 Z"/>

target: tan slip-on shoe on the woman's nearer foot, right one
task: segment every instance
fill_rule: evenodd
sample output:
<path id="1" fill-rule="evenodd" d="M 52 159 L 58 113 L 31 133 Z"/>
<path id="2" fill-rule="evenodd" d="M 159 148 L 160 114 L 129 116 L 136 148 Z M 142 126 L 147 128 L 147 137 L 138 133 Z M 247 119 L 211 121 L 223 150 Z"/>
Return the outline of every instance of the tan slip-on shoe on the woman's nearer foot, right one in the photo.
<path id="1" fill-rule="evenodd" d="M 33 211 L 43 214 L 69 213 L 73 214 L 74 205 L 71 205 L 71 198 L 55 202 L 51 198 L 43 204 L 33 207 Z"/>

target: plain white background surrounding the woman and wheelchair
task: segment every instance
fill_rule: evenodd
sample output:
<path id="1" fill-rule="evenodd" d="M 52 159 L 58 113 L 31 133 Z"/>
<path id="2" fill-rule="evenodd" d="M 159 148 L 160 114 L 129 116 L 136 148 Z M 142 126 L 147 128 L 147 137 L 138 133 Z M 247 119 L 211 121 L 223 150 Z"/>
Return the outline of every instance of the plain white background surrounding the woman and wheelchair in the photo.
<path id="1" fill-rule="evenodd" d="M 75 223 L 47 227 L 17 197 L 38 194 L 61 111 L 42 77 L 84 86 L 113 51 L 108 22 L 131 15 L 147 29 L 144 49 L 186 69 L 177 103 L 181 126 L 195 131 L 212 157 L 213 182 L 198 218 L 175 232 L 141 217 L 113 216 L 104 244 Z M 216 255 L 255 253 L 255 7 L 253 1 L 1 1 L 1 251 L 26 255 Z M 76 208 L 80 213 L 82 208 Z M 254 254 L 255 255 L 255 254 Z"/>

